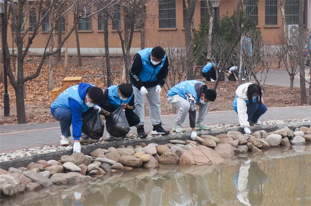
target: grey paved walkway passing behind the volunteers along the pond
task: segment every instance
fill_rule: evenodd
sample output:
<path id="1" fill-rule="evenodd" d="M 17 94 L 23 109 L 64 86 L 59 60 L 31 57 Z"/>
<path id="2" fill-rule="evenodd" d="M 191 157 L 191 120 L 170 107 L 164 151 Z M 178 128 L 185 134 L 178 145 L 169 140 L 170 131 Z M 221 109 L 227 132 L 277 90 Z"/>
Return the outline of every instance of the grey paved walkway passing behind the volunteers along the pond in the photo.
<path id="1" fill-rule="evenodd" d="M 164 128 L 172 129 L 176 115 L 163 116 Z M 311 106 L 269 108 L 260 120 L 293 119 L 311 117 Z M 234 111 L 208 112 L 205 123 L 207 125 L 238 123 L 238 115 Z M 186 118 L 184 127 L 189 127 L 189 118 Z M 149 117 L 145 118 L 145 129 L 150 132 L 152 125 Z M 0 126 L 0 152 L 17 150 L 20 148 L 35 147 L 38 145 L 52 145 L 59 143 L 60 127 L 58 123 L 35 125 L 5 125 Z M 136 128 L 132 127 L 132 133 Z M 104 136 L 106 135 L 106 131 Z M 73 140 L 72 137 L 69 140 Z"/>

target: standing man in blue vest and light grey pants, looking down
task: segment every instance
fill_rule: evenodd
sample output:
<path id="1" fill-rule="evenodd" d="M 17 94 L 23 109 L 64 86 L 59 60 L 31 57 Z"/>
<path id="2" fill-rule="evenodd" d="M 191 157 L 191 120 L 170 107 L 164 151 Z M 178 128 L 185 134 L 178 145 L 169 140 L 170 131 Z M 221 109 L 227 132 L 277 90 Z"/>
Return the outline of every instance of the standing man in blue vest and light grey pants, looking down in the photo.
<path id="1" fill-rule="evenodd" d="M 135 113 L 140 122 L 137 125 L 138 137 L 145 138 L 144 129 L 145 96 L 153 124 L 151 134 L 168 135 L 170 131 L 162 127 L 160 93 L 168 74 L 169 60 L 162 47 L 146 48 L 138 51 L 131 65 L 130 78 L 135 95 Z"/>

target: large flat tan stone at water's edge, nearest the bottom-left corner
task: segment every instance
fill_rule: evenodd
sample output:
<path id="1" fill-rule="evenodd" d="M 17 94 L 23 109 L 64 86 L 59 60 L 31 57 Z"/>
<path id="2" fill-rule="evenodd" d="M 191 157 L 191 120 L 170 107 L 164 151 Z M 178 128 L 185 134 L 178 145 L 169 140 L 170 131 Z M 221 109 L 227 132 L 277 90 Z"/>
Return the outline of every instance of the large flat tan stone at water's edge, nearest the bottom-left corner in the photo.
<path id="1" fill-rule="evenodd" d="M 69 172 L 66 174 L 63 173 L 53 174 L 52 177 L 50 178 L 52 183 L 55 185 L 88 182 L 90 179 L 91 179 L 90 176 L 83 176 L 80 173 L 74 172 Z"/>

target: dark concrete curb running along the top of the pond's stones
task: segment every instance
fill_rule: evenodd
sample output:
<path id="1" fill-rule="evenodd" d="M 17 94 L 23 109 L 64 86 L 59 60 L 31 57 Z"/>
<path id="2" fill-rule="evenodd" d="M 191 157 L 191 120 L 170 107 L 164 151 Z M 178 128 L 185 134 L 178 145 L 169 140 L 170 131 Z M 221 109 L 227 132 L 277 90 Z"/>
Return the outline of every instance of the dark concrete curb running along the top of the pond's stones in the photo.
<path id="1" fill-rule="evenodd" d="M 250 127 L 252 131 L 258 131 L 258 130 L 266 130 L 267 132 L 271 132 L 276 130 L 277 128 L 282 128 L 282 127 L 289 127 L 290 129 L 294 130 L 296 127 L 310 127 L 311 122 L 303 122 L 303 123 L 289 123 L 289 124 L 279 124 L 279 125 L 258 125 L 258 126 L 253 126 Z M 213 136 L 227 133 L 228 131 L 241 131 L 243 132 L 243 129 L 241 127 L 233 127 L 233 128 L 226 128 L 226 129 L 217 129 L 217 130 L 210 130 L 210 131 L 199 131 L 197 132 L 198 136 L 203 135 L 203 134 L 210 134 Z M 147 139 L 135 139 L 135 140 L 125 140 L 125 141 L 116 141 L 116 142 L 111 142 L 111 143 L 105 143 L 105 144 L 95 144 L 95 145 L 86 145 L 82 146 L 81 150 L 84 154 L 89 154 L 92 150 L 96 148 L 103 148 L 107 149 L 109 147 L 119 147 L 120 145 L 132 145 L 136 146 L 139 143 L 158 143 L 158 144 L 165 144 L 169 143 L 170 140 L 189 140 L 190 138 L 190 132 L 186 132 L 183 134 L 174 134 L 174 135 L 168 135 L 168 136 L 159 136 L 159 137 L 154 137 L 154 138 L 147 138 Z M 51 152 L 47 154 L 38 154 L 34 155 L 31 157 L 26 157 L 26 158 L 19 158 L 19 159 L 13 159 L 10 161 L 5 161 L 5 162 L 0 162 L 0 168 L 3 170 L 8 170 L 10 167 L 26 167 L 28 164 L 31 162 L 37 162 L 38 160 L 44 159 L 44 160 L 59 160 L 62 156 L 64 155 L 71 155 L 72 154 L 72 149 L 70 150 L 63 150 L 63 151 L 56 151 L 56 152 Z"/>

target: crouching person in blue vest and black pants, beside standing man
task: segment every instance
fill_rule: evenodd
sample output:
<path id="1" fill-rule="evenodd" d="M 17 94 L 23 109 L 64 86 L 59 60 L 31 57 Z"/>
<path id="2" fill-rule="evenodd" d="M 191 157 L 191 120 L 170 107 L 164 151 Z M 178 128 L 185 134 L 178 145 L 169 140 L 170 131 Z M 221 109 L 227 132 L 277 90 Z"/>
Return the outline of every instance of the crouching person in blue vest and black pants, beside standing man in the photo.
<path id="1" fill-rule="evenodd" d="M 125 117 L 130 127 L 136 126 L 139 123 L 139 117 L 134 113 L 134 94 L 131 84 L 122 83 L 108 87 L 100 104 L 102 115 L 108 119 L 110 113 L 122 106 Z M 115 137 L 107 135 L 106 141 L 112 141 Z"/>

